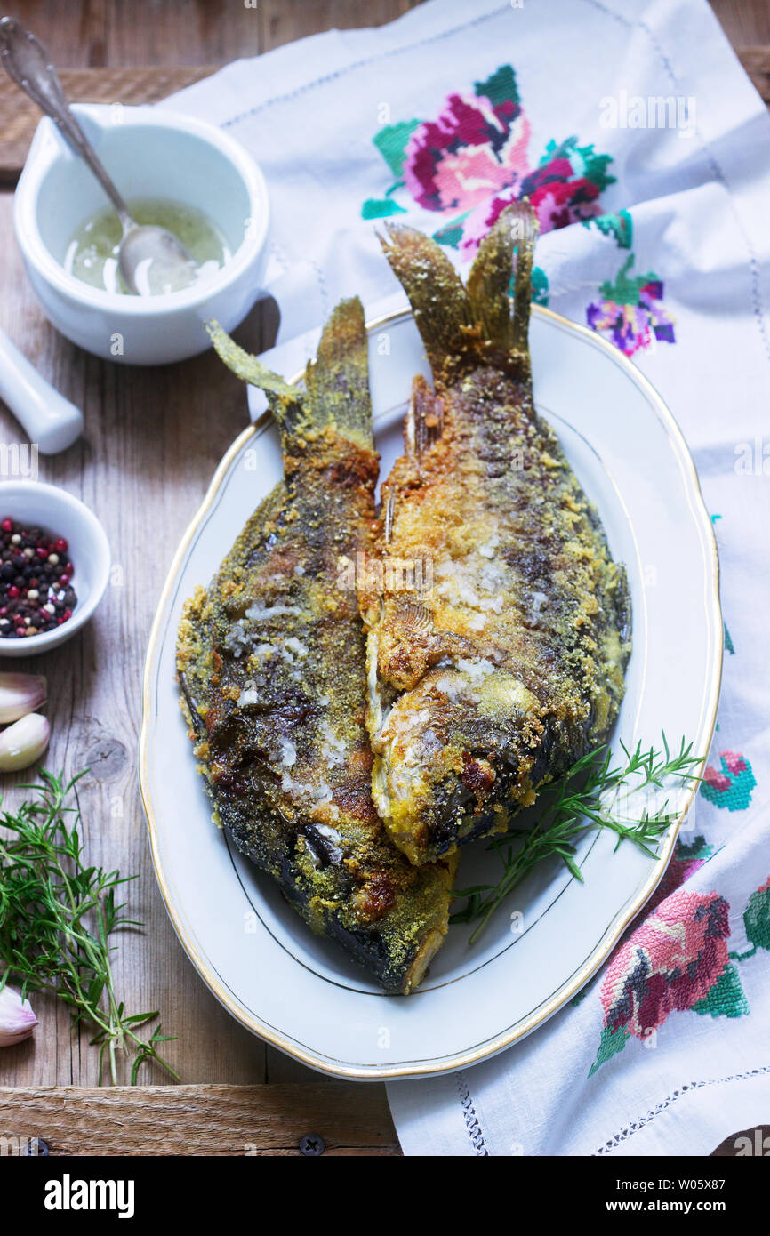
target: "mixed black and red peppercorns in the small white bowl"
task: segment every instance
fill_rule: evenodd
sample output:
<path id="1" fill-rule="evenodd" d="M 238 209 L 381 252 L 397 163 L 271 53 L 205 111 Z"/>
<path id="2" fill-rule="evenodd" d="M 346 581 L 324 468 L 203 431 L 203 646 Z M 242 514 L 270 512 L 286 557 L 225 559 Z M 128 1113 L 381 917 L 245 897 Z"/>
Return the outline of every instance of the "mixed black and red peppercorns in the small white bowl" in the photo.
<path id="1" fill-rule="evenodd" d="M 78 598 L 63 536 L 0 522 L 0 638 L 40 635 L 72 618 Z"/>

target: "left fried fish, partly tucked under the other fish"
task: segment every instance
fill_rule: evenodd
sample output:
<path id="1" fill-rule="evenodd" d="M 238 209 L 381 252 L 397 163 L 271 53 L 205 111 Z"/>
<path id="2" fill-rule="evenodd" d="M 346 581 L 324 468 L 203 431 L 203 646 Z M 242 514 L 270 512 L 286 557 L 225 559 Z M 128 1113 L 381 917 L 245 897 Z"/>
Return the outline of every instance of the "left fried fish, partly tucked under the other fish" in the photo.
<path id="1" fill-rule="evenodd" d="M 378 473 L 361 304 L 335 309 L 303 393 L 213 337 L 266 391 L 284 480 L 184 608 L 177 664 L 200 771 L 215 819 L 313 929 L 408 993 L 444 939 L 454 864 L 412 866 L 371 796 L 365 641 L 345 566 L 368 549 Z"/>

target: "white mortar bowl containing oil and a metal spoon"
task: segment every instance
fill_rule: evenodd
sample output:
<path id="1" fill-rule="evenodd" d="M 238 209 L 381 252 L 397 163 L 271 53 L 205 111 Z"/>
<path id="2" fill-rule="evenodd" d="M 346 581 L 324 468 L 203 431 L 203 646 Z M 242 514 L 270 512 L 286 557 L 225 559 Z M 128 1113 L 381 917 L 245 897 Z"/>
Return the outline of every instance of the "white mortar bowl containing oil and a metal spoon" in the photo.
<path id="1" fill-rule="evenodd" d="M 224 234 L 230 260 L 210 279 L 158 297 L 93 288 L 64 271 L 67 247 L 104 190 L 56 125 L 41 120 L 16 188 L 14 226 L 32 288 L 74 344 L 125 365 L 163 365 L 210 346 L 209 318 L 232 330 L 260 295 L 269 206 L 247 152 L 214 125 L 156 108 L 73 108 L 124 198 L 197 206 Z"/>

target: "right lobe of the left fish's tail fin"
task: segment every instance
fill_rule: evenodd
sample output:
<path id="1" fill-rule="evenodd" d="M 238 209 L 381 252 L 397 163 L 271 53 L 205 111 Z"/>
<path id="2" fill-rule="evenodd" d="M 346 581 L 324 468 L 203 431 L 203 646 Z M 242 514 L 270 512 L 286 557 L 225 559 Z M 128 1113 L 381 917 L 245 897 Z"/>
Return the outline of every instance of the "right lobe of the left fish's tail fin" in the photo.
<path id="1" fill-rule="evenodd" d="M 305 410 L 315 425 L 334 421 L 342 438 L 371 449 L 372 400 L 363 305 L 340 300 L 305 370 Z"/>

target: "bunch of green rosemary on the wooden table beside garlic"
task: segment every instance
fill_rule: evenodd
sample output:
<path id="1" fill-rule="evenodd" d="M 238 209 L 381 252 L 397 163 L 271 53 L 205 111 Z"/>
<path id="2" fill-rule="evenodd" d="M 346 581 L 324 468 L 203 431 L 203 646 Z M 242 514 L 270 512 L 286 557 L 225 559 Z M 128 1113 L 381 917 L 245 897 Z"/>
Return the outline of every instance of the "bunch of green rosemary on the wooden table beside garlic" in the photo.
<path id="1" fill-rule="evenodd" d="M 136 876 L 87 864 L 79 811 L 66 806 L 80 776 L 64 784 L 63 775 L 41 770 L 41 785 L 22 786 L 35 797 L 0 816 L 10 834 L 0 836 L 0 991 L 14 980 L 22 996 L 52 993 L 68 1005 L 75 1025 L 93 1027 L 100 1085 L 105 1060 L 117 1084 L 119 1053 L 133 1056 L 132 1085 L 148 1060 L 179 1080 L 157 1051 L 172 1036 L 159 1026 L 148 1038 L 137 1033 L 157 1010 L 129 1015 L 115 994 L 110 937 L 121 927 L 142 926 L 121 915 L 125 904 L 116 905 L 115 890 Z"/>

